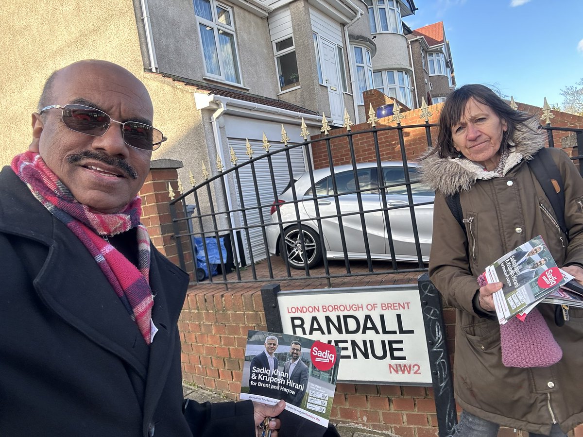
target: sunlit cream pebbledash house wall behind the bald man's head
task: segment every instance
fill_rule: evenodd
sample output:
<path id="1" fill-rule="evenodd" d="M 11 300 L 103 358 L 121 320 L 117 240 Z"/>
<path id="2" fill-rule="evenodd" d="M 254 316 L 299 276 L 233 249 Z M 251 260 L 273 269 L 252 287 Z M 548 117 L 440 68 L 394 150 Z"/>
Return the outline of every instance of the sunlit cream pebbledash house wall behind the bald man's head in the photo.
<path id="1" fill-rule="evenodd" d="M 191 91 L 144 72 L 131 0 L 0 2 L 0 167 L 30 143 L 30 114 L 47 77 L 80 59 L 106 59 L 145 83 L 154 103 L 154 125 L 168 142 L 153 158 L 181 160 L 205 150 L 205 138 Z M 56 103 L 56 102 L 55 102 Z"/>

